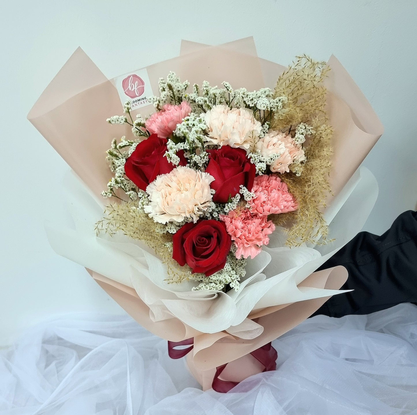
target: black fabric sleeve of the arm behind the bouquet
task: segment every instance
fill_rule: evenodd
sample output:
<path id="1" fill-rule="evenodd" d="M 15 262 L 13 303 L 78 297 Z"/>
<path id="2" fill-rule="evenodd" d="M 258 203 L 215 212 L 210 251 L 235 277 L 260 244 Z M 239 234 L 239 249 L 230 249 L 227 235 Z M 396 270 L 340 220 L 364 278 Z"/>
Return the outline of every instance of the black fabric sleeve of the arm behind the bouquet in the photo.
<path id="1" fill-rule="evenodd" d="M 319 269 L 343 265 L 343 290 L 316 313 L 331 317 L 369 314 L 400 303 L 417 303 L 417 212 L 408 210 L 383 235 L 361 232 Z"/>

